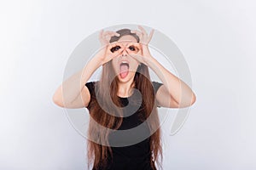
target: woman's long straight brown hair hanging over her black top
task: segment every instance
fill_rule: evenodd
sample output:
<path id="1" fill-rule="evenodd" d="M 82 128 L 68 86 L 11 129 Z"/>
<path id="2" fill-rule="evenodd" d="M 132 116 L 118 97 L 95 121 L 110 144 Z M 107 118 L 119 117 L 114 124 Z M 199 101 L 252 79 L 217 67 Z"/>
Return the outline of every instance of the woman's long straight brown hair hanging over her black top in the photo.
<path id="1" fill-rule="evenodd" d="M 136 34 L 131 33 L 130 29 L 121 29 L 116 31 L 120 34 L 119 37 L 112 37 L 109 42 L 118 41 L 120 37 L 125 35 L 131 35 L 137 39 L 139 42 L 139 37 Z M 109 87 L 110 84 L 110 87 Z M 152 135 L 149 137 L 150 141 L 150 153 L 151 161 L 150 165 L 153 169 L 156 169 L 154 162 L 161 167 L 162 161 L 162 146 L 160 142 L 160 121 L 158 116 L 158 111 L 156 109 L 156 104 L 154 102 L 154 88 L 152 87 L 151 80 L 149 77 L 148 66 L 143 65 L 143 63 L 138 66 L 137 72 L 134 77 L 133 84 L 143 96 L 143 115 L 140 115 L 140 119 L 145 121 L 148 118 L 148 127 Z M 111 61 L 102 65 L 102 77 L 96 85 L 96 94 L 100 96 L 99 98 L 91 98 L 90 100 L 90 123 L 88 128 L 88 169 L 90 163 L 93 162 L 93 168 L 98 170 L 99 167 L 106 167 L 108 163 L 108 158 L 111 156 L 113 158 L 113 153 L 111 147 L 108 145 L 102 145 L 102 141 L 108 144 L 108 128 L 118 129 L 123 121 L 122 112 L 113 107 L 114 105 L 121 106 L 119 97 L 117 96 L 118 90 L 118 77 L 115 76 L 113 71 L 113 66 Z M 110 90 L 110 93 L 108 89 Z M 109 95 L 112 101 L 109 101 Z M 99 101 L 101 100 L 101 101 Z M 99 103 L 101 105 L 99 105 Z M 103 105 L 102 105 L 103 104 Z M 104 109 L 102 109 L 102 106 Z M 108 114 L 106 111 L 115 112 L 119 116 L 113 116 L 113 114 Z M 150 114 L 153 114 L 149 117 Z M 92 118 L 95 122 L 99 123 L 104 128 L 104 130 L 99 130 L 96 124 L 92 123 Z M 90 139 L 94 139 L 91 141 Z"/>

